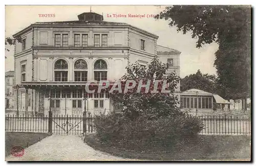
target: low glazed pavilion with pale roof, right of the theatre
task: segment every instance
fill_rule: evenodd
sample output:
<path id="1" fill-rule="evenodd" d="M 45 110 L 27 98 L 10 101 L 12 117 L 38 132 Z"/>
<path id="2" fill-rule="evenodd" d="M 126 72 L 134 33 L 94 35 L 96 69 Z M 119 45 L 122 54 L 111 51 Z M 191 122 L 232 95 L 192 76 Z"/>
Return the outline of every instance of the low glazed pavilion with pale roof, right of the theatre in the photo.
<path id="1" fill-rule="evenodd" d="M 180 94 L 181 107 L 198 113 L 212 112 L 213 110 L 229 110 L 229 102 L 217 94 L 198 89 L 190 89 Z"/>

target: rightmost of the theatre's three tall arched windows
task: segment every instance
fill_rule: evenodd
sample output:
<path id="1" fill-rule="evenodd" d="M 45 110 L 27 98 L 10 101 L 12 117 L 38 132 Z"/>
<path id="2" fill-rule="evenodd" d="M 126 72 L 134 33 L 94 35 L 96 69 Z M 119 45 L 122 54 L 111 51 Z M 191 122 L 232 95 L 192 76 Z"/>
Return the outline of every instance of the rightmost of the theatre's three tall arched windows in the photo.
<path id="1" fill-rule="evenodd" d="M 94 63 L 94 79 L 97 81 L 106 80 L 108 74 L 108 65 L 104 60 L 97 60 Z"/>

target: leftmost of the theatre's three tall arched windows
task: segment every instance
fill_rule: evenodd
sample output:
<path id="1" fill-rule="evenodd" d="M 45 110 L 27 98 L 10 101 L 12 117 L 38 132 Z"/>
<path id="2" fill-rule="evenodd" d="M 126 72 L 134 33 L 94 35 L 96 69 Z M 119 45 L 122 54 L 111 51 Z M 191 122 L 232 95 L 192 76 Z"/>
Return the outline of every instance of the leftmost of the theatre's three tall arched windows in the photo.
<path id="1" fill-rule="evenodd" d="M 65 60 L 57 60 L 54 64 L 54 80 L 68 81 L 68 63 Z"/>

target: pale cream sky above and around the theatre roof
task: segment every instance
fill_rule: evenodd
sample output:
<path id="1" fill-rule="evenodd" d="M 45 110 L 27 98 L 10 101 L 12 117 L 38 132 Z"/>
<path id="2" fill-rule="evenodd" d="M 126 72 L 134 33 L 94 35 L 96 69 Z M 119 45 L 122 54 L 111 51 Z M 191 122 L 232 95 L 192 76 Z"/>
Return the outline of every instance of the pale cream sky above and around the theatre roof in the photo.
<path id="1" fill-rule="evenodd" d="M 216 74 L 214 67 L 217 43 L 206 44 L 196 48 L 196 39 L 191 34 L 177 33 L 176 27 L 170 27 L 167 20 L 154 18 L 111 18 L 113 14 L 159 14 L 165 6 L 91 6 L 93 12 L 102 14 L 104 21 L 125 22 L 159 36 L 157 44 L 177 49 L 180 54 L 180 76 L 194 74 L 198 69 L 203 74 Z M 6 6 L 5 37 L 25 29 L 32 23 L 45 21 L 78 20 L 77 15 L 90 12 L 90 6 Z M 55 17 L 39 17 L 39 14 L 55 14 Z M 5 71 L 14 70 L 14 46 L 7 46 Z"/>

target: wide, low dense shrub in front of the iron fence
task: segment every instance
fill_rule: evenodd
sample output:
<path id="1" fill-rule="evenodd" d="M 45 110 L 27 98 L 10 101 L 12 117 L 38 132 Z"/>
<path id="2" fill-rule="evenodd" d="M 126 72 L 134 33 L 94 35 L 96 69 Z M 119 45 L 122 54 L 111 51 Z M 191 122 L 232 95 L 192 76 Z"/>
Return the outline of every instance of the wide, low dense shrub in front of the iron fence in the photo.
<path id="1" fill-rule="evenodd" d="M 203 125 L 193 116 L 149 119 L 140 116 L 132 121 L 122 114 L 96 116 L 96 138 L 102 144 L 133 150 L 179 148 L 197 138 Z"/>

